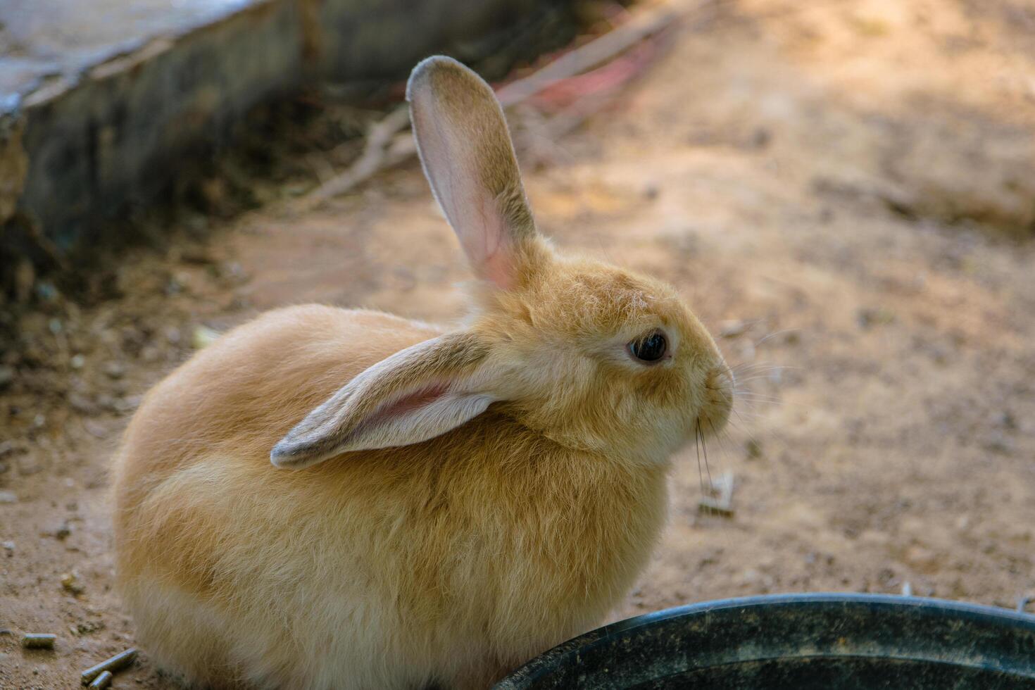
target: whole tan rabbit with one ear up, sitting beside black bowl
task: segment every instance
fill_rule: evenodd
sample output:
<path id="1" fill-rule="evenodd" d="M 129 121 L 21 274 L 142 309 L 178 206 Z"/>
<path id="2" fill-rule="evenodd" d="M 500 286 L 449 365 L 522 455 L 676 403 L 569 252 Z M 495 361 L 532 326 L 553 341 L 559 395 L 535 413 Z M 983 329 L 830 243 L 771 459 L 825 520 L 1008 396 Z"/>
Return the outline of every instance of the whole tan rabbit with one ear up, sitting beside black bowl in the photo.
<path id="1" fill-rule="evenodd" d="M 453 328 L 269 311 L 157 384 L 114 460 L 117 582 L 187 685 L 485 688 L 644 569 L 733 376 L 677 292 L 538 234 L 491 87 L 407 85 L 469 260 Z"/>

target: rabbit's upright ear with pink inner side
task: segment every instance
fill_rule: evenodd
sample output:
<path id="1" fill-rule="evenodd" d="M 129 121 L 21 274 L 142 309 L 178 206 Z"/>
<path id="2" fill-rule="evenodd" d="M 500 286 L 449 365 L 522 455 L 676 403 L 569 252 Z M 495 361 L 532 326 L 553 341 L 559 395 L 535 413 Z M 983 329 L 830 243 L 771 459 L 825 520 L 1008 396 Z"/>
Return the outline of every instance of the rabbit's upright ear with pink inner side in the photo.
<path id="1" fill-rule="evenodd" d="M 406 98 L 424 175 L 474 272 L 504 290 L 512 287 L 535 221 L 493 89 L 438 56 L 414 68 Z"/>

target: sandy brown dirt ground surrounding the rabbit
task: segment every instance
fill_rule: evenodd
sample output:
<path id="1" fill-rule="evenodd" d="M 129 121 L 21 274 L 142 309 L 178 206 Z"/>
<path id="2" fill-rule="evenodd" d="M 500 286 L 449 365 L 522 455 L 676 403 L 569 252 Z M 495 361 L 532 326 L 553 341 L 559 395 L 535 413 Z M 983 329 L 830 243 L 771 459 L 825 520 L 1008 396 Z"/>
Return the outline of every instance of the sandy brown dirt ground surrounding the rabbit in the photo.
<path id="1" fill-rule="evenodd" d="M 709 446 L 735 515 L 699 514 L 680 454 L 671 524 L 615 617 L 907 583 L 1035 597 L 1035 9 L 739 0 L 671 39 L 525 160 L 544 233 L 673 281 L 731 363 L 759 365 Z M 127 254 L 91 306 L 29 286 L 0 355 L 0 688 L 77 687 L 134 644 L 108 461 L 208 329 L 307 301 L 461 310 L 466 268 L 413 162 L 312 212 L 196 224 L 204 240 Z M 114 687 L 138 686 L 168 687 L 146 655 Z"/>

